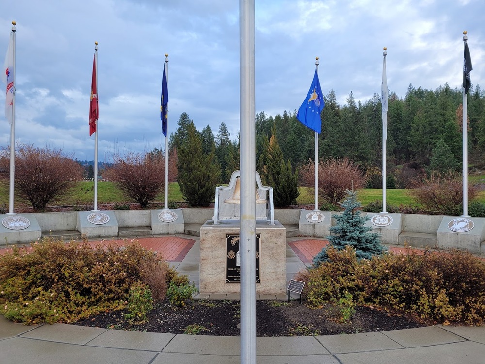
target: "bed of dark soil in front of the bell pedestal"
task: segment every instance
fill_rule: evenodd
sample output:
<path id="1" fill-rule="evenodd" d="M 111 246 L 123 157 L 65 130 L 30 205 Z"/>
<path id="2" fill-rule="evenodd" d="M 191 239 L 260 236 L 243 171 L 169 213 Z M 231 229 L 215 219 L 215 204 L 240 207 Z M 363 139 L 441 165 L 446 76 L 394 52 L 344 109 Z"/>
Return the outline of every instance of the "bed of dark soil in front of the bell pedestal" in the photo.
<path id="1" fill-rule="evenodd" d="M 125 313 L 127 311 L 105 312 L 74 325 L 174 334 L 240 335 L 239 301 L 194 300 L 191 306 L 183 309 L 164 301 L 155 305 L 146 323 L 138 325 L 130 324 L 124 318 Z M 410 329 L 430 324 L 366 306 L 357 306 L 350 320 L 340 322 L 338 310 L 330 305 L 311 309 L 299 301 L 256 302 L 257 336 L 335 335 Z"/>

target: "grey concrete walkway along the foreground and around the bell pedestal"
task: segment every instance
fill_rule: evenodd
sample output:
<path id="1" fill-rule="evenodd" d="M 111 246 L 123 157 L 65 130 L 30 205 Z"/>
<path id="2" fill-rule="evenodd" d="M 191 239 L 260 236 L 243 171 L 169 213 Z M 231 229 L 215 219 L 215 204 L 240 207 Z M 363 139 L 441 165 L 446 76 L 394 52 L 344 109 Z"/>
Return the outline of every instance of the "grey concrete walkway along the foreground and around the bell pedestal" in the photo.
<path id="1" fill-rule="evenodd" d="M 187 236 L 178 238 L 189 240 Z M 142 245 L 149 247 L 152 241 L 148 239 L 155 238 L 140 238 L 144 240 Z M 289 242 L 296 240 L 289 239 Z M 190 244 L 181 262 L 171 264 L 198 285 L 198 239 Z M 183 248 L 178 247 L 174 256 L 181 257 Z M 287 245 L 287 281 L 305 266 Z M 348 335 L 258 337 L 256 354 L 261 364 L 485 364 L 485 327 L 439 325 Z M 239 355 L 239 337 L 134 332 L 66 324 L 24 326 L 0 316 L 0 364 L 230 364 L 240 363 Z"/>

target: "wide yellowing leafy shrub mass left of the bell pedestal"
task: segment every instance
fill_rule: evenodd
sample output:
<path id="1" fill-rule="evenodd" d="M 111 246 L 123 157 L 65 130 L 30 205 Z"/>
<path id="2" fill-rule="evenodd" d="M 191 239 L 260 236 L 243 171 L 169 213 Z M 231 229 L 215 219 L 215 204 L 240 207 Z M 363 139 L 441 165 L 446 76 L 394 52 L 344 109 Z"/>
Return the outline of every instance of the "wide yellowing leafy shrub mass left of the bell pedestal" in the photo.
<path id="1" fill-rule="evenodd" d="M 0 256 L 0 314 L 35 324 L 72 322 L 121 309 L 141 284 L 141 261 L 153 255 L 136 241 L 91 247 L 44 238 Z"/>

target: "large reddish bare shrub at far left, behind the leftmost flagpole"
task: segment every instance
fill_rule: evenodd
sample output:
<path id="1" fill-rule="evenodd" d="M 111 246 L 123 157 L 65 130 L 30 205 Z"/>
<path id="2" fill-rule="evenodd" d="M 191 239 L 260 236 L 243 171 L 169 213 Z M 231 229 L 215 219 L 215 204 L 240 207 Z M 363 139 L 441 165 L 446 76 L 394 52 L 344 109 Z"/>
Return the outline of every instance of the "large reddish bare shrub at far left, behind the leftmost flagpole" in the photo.
<path id="1" fill-rule="evenodd" d="M 47 204 L 65 196 L 82 179 L 82 167 L 62 149 L 17 145 L 15 190 L 18 197 L 32 204 L 34 211 L 44 211 Z M 10 150 L 0 153 L 0 178 L 10 176 Z"/>

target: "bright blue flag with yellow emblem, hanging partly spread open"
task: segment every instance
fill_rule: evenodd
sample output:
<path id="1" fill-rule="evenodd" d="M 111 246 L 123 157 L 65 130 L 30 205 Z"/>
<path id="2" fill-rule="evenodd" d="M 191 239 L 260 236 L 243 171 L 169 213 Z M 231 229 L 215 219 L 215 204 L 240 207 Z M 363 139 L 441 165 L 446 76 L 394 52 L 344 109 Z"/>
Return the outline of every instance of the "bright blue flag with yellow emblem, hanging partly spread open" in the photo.
<path id="1" fill-rule="evenodd" d="M 317 70 L 315 69 L 315 76 L 308 91 L 307 98 L 303 101 L 296 118 L 311 130 L 315 132 L 322 131 L 322 122 L 320 120 L 320 112 L 325 107 L 322 90 L 320 89 L 320 82 L 318 81 Z"/>

